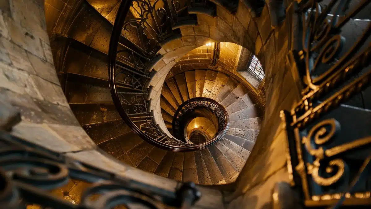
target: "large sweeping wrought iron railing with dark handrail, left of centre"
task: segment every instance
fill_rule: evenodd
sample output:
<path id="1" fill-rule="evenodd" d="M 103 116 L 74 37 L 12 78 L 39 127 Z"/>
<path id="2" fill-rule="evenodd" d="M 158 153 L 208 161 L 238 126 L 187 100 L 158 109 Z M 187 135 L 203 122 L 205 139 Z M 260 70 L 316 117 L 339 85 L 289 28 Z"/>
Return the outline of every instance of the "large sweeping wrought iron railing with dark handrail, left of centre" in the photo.
<path id="1" fill-rule="evenodd" d="M 166 134 L 154 122 L 154 113 L 148 108 L 148 87 L 154 75 L 151 70 L 161 58 L 157 54 L 160 45 L 180 36 L 177 29 L 180 25 L 196 24 L 193 16 L 181 12 L 189 4 L 187 1 L 170 0 L 122 1 L 108 51 L 109 88 L 120 116 L 142 139 L 172 151 L 204 148 L 200 145 L 194 147 Z"/>

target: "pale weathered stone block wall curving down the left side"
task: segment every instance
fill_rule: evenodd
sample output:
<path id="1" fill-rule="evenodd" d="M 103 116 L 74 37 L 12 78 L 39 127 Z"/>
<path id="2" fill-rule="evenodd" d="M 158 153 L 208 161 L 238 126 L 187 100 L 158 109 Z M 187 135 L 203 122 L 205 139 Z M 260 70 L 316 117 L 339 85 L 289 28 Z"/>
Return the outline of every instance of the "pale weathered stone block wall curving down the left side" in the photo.
<path id="1" fill-rule="evenodd" d="M 44 9 L 40 0 L 6 0 L 0 4 L 0 98 L 22 117 L 12 134 L 103 170 L 174 191 L 177 181 L 116 161 L 100 151 L 81 128 L 58 80 Z M 86 186 L 81 184 L 81 189 Z M 205 195 L 199 207 L 221 207 L 219 191 L 200 190 Z M 78 197 L 81 191 L 76 192 Z"/>

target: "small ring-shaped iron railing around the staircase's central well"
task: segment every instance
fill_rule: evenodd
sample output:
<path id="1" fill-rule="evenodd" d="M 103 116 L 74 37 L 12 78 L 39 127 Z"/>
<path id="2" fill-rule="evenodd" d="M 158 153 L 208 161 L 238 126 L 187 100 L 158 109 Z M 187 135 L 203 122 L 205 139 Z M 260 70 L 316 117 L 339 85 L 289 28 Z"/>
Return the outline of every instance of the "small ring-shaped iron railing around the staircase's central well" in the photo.
<path id="1" fill-rule="evenodd" d="M 217 119 L 217 130 L 215 136 L 207 142 L 198 144 L 200 148 L 204 148 L 223 138 L 229 128 L 229 116 L 227 110 L 215 100 L 207 97 L 194 97 L 183 102 L 175 111 L 173 118 L 173 132 L 177 139 L 186 141 L 184 135 L 184 129 L 186 128 L 184 120 L 189 119 L 188 115 L 193 113 L 195 109 L 200 108 L 201 110 L 210 111 Z"/>

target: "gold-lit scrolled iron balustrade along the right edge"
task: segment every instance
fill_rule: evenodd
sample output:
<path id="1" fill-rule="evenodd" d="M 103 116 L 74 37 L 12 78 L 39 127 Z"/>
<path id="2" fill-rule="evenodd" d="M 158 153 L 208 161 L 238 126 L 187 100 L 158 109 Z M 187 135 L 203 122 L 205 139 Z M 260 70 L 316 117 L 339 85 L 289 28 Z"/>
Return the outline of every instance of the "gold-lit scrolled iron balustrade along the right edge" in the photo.
<path id="1" fill-rule="evenodd" d="M 303 78 L 302 100 L 281 112 L 291 185 L 301 189 L 305 206 L 370 206 L 371 112 L 342 105 L 370 84 L 371 22 L 348 48 L 342 36 L 370 0 L 320 2 L 290 8 L 302 30 L 293 34 L 300 43 L 288 61 Z"/>

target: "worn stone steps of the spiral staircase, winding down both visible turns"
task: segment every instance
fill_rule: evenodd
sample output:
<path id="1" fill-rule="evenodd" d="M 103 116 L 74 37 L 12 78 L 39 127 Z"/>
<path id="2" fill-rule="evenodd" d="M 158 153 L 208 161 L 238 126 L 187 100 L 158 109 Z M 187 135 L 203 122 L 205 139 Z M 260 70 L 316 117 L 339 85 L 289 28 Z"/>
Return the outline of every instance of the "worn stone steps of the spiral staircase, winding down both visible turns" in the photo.
<path id="1" fill-rule="evenodd" d="M 96 145 L 123 163 L 170 179 L 209 185 L 235 181 L 252 151 L 263 115 L 262 107 L 256 95 L 247 87 L 247 82 L 217 70 L 196 69 L 173 77 L 169 77 L 169 74 L 160 97 L 162 123 L 168 128 L 162 130 L 154 121 L 153 111 L 149 111 L 151 104 L 145 99 L 153 89 L 145 86 L 154 77 L 155 71 L 148 66 L 145 68 L 144 62 L 134 65 L 129 58 L 135 53 L 142 53 L 137 56 L 140 59 L 144 59 L 145 55 L 134 44 L 133 31 L 126 31 L 125 35 L 122 34 L 125 30 L 121 32 L 119 52 L 115 56 L 115 76 L 112 78 L 116 91 L 122 92 L 119 95 L 125 98 L 121 99 L 121 107 L 117 107 L 111 97 L 106 59 L 112 59 L 108 57 L 109 38 L 120 2 L 104 4 L 104 9 L 94 1 L 79 2 L 76 5 L 76 19 L 71 23 L 69 32 L 56 33 L 51 37 L 51 45 L 60 54 L 65 54 L 64 57 L 55 54 L 57 69 L 60 67 L 60 83 L 73 113 Z M 207 3 L 211 4 L 209 1 Z M 187 21 L 189 23 L 191 20 Z M 93 33 L 89 33 L 91 30 Z M 131 54 L 125 54 L 127 46 L 132 47 L 129 50 Z M 156 59 L 158 55 L 152 53 L 151 56 Z M 137 83 L 134 84 L 133 80 Z M 192 90 L 190 84 L 193 84 Z M 187 94 L 179 90 L 183 87 L 187 89 Z M 135 96 L 134 100 L 141 98 L 142 103 L 130 103 L 134 98 L 132 95 Z M 137 127 L 146 127 L 147 130 L 140 131 L 149 133 L 147 136 L 151 136 L 152 140 L 161 137 L 161 140 L 164 137 L 171 139 L 175 111 L 185 100 L 196 96 L 215 99 L 225 107 L 230 121 L 229 128 L 213 142 L 215 144 L 204 146 L 206 148 L 196 147 L 193 151 L 184 152 L 181 147 L 172 150 L 172 147 L 156 146 L 151 141 L 143 140 L 119 113 L 122 108 L 126 121 L 130 120 Z M 136 107 L 145 111 L 135 112 Z"/>

